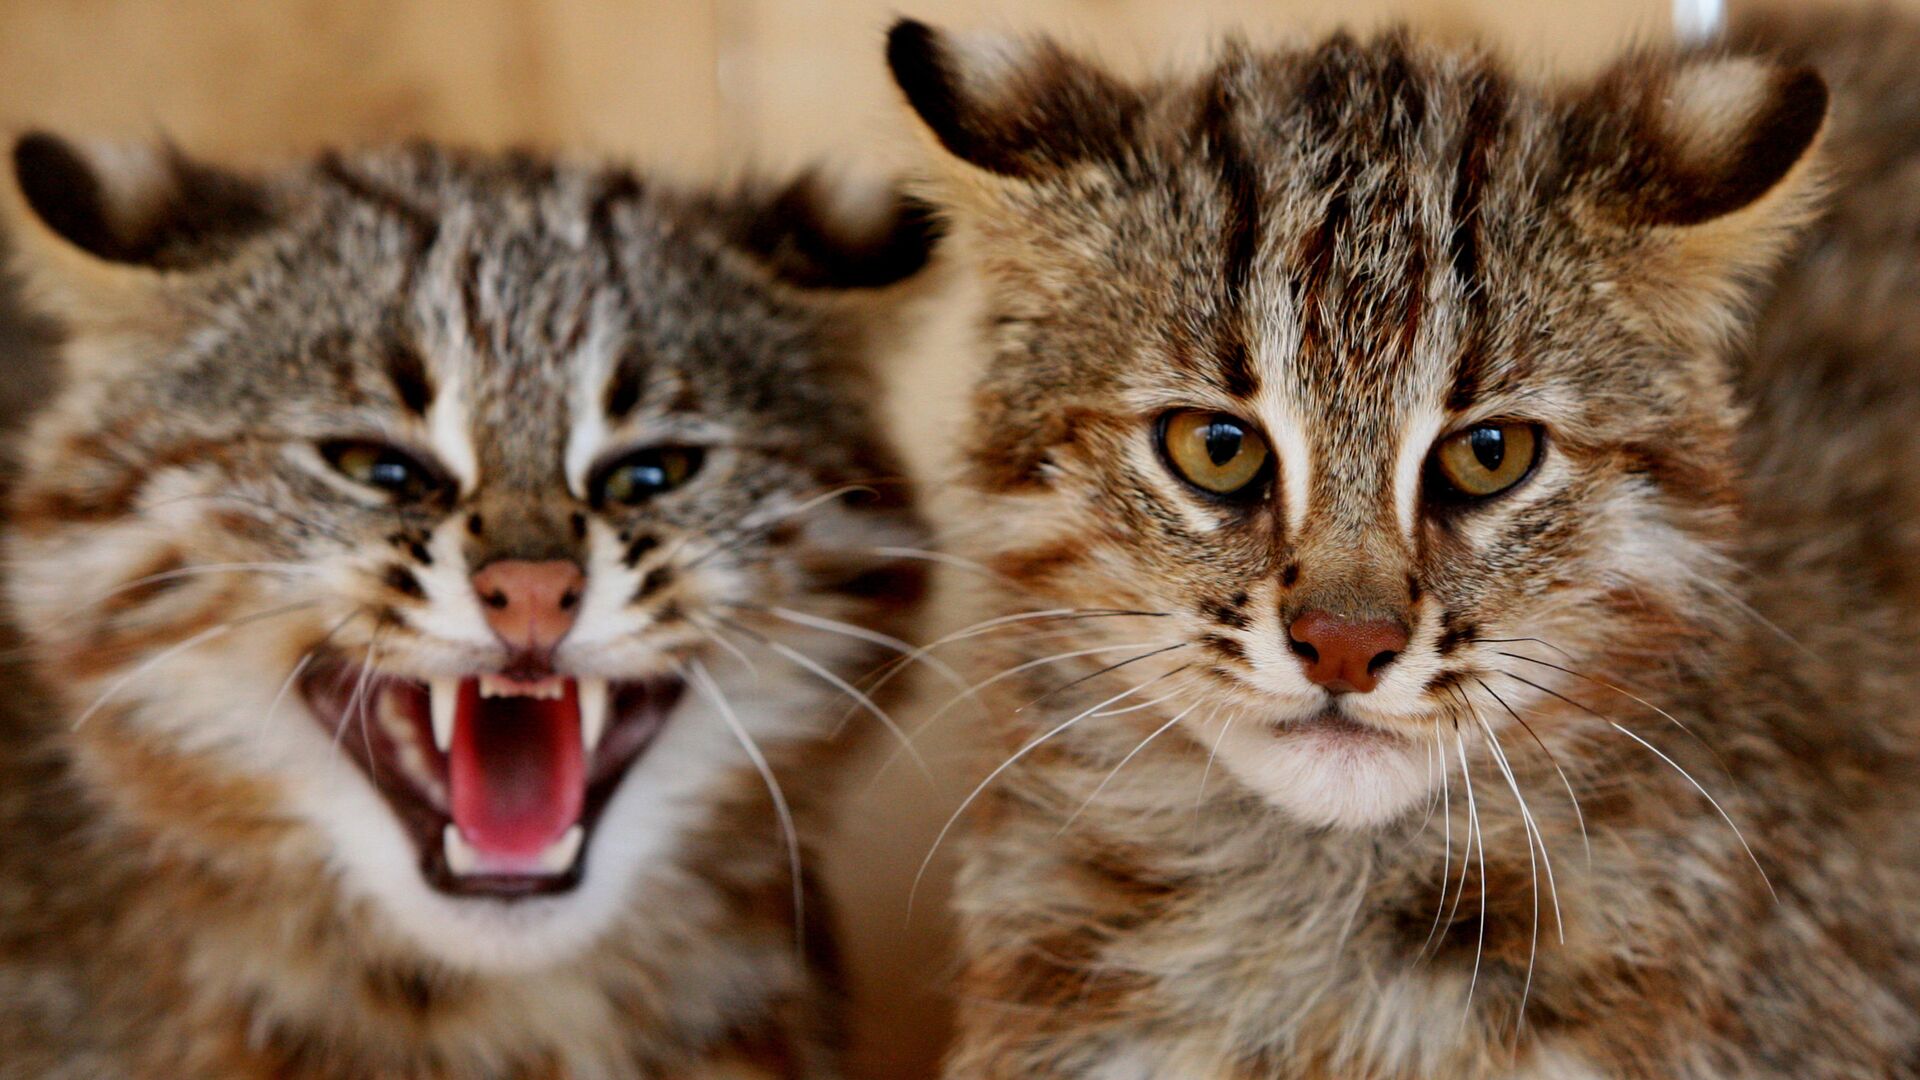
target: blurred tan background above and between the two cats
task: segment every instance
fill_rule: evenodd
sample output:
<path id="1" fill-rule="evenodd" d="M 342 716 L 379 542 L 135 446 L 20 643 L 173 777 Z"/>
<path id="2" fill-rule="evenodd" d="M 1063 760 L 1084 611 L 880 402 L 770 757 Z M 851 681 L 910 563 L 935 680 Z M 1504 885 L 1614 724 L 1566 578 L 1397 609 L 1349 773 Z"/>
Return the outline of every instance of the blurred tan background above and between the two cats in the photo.
<path id="1" fill-rule="evenodd" d="M 230 163 L 430 136 L 689 179 L 812 161 L 883 173 L 914 150 L 881 63 L 897 13 L 1046 29 L 1123 69 L 1196 56 L 1227 29 L 1275 40 L 1409 21 L 1578 71 L 1670 27 L 1667 0 L 0 0 L 0 125 L 167 135 Z M 38 394 L 40 344 L 0 311 L 0 413 Z M 952 367 L 933 348 L 891 361 L 893 413 L 935 488 L 964 386 Z M 900 707 L 908 724 L 916 711 L 929 709 Z M 931 736 L 929 757 L 950 763 L 943 790 L 912 769 L 872 782 L 868 767 L 826 851 L 864 1076 L 927 1076 L 943 1038 L 939 874 L 912 920 L 906 890 L 970 769 L 962 732 Z"/>

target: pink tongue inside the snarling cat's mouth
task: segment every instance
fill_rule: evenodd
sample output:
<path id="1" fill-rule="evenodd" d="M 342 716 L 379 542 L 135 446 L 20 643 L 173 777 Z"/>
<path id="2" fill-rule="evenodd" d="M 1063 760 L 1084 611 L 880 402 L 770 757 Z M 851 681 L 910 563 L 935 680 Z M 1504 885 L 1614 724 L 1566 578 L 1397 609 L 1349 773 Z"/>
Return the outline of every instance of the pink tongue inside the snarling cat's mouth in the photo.
<path id="1" fill-rule="evenodd" d="M 480 698 L 461 680 L 447 786 L 453 824 L 482 855 L 526 859 L 559 840 L 586 801 L 574 680 L 553 700 Z"/>

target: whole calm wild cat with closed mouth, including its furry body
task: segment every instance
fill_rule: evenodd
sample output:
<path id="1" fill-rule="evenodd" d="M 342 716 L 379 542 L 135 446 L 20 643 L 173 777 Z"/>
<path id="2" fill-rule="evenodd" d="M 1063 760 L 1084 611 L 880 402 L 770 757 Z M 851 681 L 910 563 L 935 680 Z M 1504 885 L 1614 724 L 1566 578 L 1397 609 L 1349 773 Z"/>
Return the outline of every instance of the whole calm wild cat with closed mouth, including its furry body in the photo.
<path id="1" fill-rule="evenodd" d="M 1920 31 L 1820 17 L 895 27 L 1010 642 L 950 1076 L 1920 1074 Z"/>

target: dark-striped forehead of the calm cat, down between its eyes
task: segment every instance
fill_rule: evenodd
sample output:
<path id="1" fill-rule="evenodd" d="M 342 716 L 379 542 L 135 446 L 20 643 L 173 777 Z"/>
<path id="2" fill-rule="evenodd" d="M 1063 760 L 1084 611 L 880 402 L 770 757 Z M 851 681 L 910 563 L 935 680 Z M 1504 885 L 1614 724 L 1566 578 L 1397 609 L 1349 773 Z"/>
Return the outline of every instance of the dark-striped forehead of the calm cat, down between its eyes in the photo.
<path id="1" fill-rule="evenodd" d="M 1215 183 L 1212 380 L 1281 457 L 1286 517 L 1400 519 L 1486 352 L 1482 223 L 1505 136 L 1492 75 L 1334 40 L 1229 63 L 1198 110 Z"/>

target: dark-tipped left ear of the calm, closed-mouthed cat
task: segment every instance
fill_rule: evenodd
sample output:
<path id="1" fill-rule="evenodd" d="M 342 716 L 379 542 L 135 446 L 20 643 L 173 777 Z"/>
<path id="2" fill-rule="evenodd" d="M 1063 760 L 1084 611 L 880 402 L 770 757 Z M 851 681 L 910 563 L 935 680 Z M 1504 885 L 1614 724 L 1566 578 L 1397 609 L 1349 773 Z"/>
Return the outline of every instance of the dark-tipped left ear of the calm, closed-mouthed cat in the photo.
<path id="1" fill-rule="evenodd" d="M 947 152 L 1000 177 L 1117 160 L 1144 108 L 1137 90 L 1048 38 L 956 38 L 900 19 L 887 67 Z"/>

